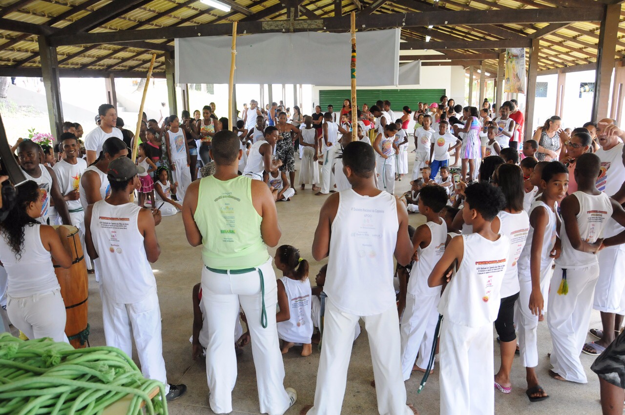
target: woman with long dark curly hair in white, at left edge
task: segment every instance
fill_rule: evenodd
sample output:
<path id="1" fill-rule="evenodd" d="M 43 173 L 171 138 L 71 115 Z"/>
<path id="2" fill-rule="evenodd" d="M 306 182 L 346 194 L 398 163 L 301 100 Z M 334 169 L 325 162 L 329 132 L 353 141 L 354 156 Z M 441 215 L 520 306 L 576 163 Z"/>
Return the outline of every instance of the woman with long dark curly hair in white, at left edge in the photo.
<path id="1" fill-rule="evenodd" d="M 29 339 L 68 342 L 65 304 L 52 259 L 68 269 L 72 259 L 52 226 L 36 221 L 44 194 L 34 181 L 17 188 L 16 204 L 0 223 L 0 261 L 8 274 L 7 312 Z"/>

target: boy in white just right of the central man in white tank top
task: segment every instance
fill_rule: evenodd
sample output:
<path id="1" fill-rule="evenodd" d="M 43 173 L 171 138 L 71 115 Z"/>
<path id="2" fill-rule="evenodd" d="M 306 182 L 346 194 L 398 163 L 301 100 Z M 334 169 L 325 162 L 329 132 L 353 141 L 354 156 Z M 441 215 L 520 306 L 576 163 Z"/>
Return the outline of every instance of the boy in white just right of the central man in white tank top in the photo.
<path id="1" fill-rule="evenodd" d="M 419 213 L 427 222 L 417 227 L 412 237 L 413 259 L 406 293 L 406 309 L 401 319 L 401 366 L 404 381 L 413 370 L 426 371 L 427 362 L 434 341 L 434 327 L 438 319 L 436 307 L 441 299 L 441 287 L 429 287 L 427 277 L 441 259 L 447 240 L 447 224 L 441 218 L 446 206 L 447 192 L 441 186 L 426 186 L 419 192 Z M 433 324 L 432 324 L 433 323 Z M 431 330 L 428 329 L 431 328 Z M 419 347 L 424 344 L 424 353 L 419 354 L 419 364 L 414 363 Z"/>

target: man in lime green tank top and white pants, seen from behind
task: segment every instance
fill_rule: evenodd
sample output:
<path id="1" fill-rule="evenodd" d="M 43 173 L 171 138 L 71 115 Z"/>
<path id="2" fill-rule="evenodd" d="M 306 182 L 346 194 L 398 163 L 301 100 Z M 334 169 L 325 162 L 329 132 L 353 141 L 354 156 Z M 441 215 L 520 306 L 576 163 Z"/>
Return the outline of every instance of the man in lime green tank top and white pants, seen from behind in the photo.
<path id="1" fill-rule="evenodd" d="M 239 304 L 247 316 L 261 413 L 281 415 L 294 404 L 294 389 L 284 389 L 284 364 L 276 329 L 277 284 L 268 246 L 281 231 L 267 184 L 238 176 L 242 151 L 232 131 L 212 138 L 212 176 L 194 181 L 183 202 L 183 221 L 191 246 L 202 244 L 202 297 L 208 319 L 206 374 L 209 404 L 216 414 L 232 411 L 237 362 L 232 333 Z M 269 310 L 269 312 L 267 312 Z"/>

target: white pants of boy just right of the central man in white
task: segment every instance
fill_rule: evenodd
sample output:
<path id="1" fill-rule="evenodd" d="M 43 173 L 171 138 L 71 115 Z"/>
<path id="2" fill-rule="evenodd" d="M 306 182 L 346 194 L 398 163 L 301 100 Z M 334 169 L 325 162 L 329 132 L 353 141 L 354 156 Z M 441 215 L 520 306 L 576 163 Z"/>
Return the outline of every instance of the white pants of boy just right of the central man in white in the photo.
<path id="1" fill-rule="evenodd" d="M 441 296 L 421 296 L 406 292 L 406 309 L 401 319 L 401 371 L 404 381 L 410 379 L 412 366 L 419 354 L 421 369 L 427 369 L 438 321 L 436 307 Z"/>

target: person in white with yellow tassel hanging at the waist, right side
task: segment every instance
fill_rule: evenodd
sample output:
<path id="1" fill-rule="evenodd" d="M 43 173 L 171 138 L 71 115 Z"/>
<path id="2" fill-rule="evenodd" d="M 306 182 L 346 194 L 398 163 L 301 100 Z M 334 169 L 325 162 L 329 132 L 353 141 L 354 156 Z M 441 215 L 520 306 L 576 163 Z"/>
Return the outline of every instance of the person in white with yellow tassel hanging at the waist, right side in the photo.
<path id="1" fill-rule="evenodd" d="M 579 354 L 586 341 L 599 277 L 596 252 L 602 245 L 615 246 L 625 240 L 625 231 L 602 239 L 610 217 L 625 225 L 625 211 L 597 190 L 600 163 L 592 153 L 582 154 L 575 163 L 577 191 L 564 198 L 560 207 L 562 253 L 556 259 L 547 306 L 547 326 L 553 343 L 553 369 L 549 374 L 558 380 L 578 383 L 586 383 Z"/>

